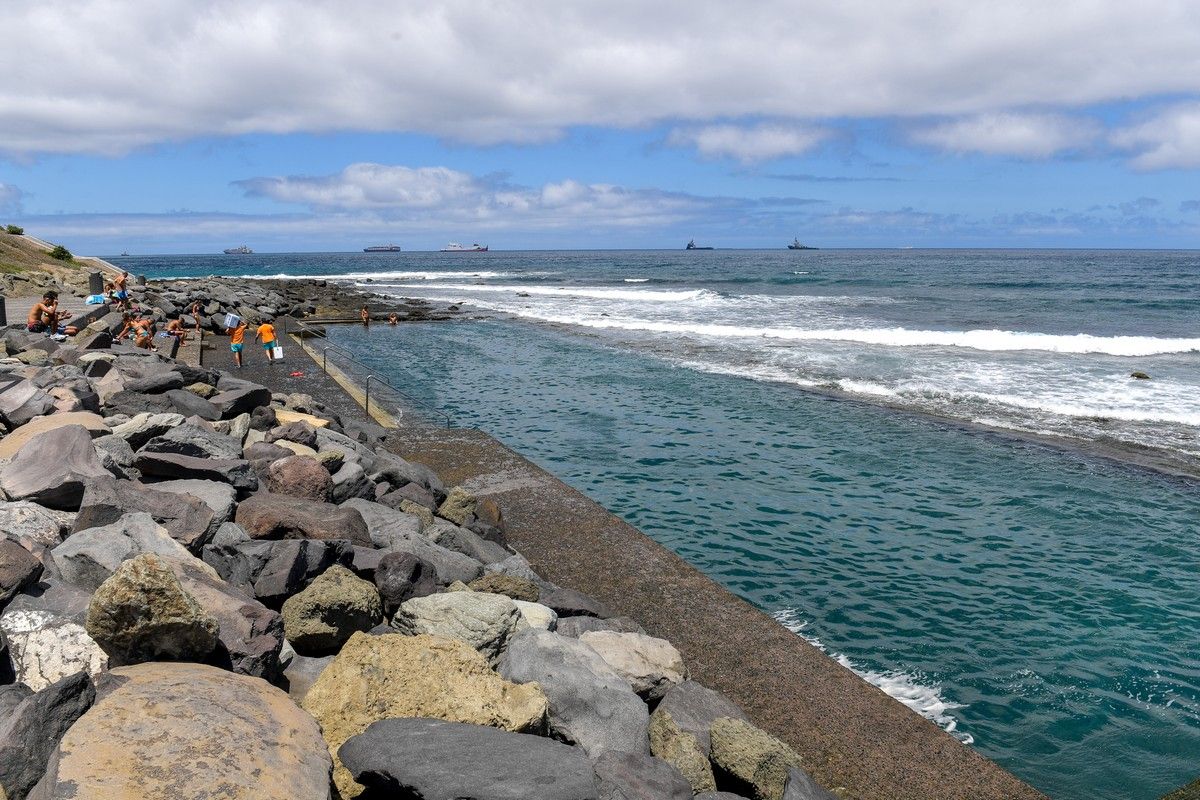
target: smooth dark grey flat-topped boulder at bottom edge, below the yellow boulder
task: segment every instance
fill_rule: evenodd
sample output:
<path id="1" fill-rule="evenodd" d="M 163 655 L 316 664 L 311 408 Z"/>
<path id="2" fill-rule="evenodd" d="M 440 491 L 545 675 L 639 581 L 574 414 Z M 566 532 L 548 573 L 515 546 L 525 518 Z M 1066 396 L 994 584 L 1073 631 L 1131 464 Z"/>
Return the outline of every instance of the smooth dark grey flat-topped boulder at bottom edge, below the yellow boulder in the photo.
<path id="1" fill-rule="evenodd" d="M 464 722 L 372 722 L 337 754 L 354 780 L 368 792 L 390 793 L 386 796 L 403 792 L 424 800 L 599 798 L 592 765 L 578 748 Z"/>

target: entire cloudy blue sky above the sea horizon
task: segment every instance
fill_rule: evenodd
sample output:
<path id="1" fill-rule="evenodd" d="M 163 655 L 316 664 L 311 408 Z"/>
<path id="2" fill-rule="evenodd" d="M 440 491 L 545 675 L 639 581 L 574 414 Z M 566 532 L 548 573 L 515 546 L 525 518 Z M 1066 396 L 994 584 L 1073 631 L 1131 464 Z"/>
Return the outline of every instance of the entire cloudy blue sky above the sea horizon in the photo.
<path id="1" fill-rule="evenodd" d="M 6 0 L 0 223 L 91 254 L 1200 247 L 1195 0 Z"/>

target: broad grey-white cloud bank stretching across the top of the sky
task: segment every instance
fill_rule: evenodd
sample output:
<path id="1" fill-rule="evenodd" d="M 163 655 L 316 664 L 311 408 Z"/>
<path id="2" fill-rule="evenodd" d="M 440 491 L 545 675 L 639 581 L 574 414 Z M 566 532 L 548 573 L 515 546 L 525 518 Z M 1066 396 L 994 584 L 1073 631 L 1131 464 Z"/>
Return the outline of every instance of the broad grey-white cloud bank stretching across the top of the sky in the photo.
<path id="1" fill-rule="evenodd" d="M 1200 92 L 1178 0 L 10 0 L 0 151 L 972 115 Z M 1130 68 L 1129 65 L 1136 65 Z"/>

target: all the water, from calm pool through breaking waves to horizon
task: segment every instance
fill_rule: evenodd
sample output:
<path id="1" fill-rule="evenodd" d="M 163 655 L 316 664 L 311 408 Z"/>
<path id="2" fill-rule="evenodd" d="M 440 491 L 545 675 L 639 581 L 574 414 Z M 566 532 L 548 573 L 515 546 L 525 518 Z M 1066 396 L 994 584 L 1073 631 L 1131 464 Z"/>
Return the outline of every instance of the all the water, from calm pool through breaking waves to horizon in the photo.
<path id="1" fill-rule="evenodd" d="M 462 302 L 330 335 L 1052 798 L 1200 776 L 1200 252 L 109 260 Z"/>

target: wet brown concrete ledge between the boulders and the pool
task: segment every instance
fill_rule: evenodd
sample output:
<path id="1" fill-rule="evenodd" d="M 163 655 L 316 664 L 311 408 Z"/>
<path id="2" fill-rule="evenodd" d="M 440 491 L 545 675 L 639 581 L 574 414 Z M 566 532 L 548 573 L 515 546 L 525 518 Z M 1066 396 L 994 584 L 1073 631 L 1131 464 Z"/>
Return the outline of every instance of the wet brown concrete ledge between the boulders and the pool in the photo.
<path id="1" fill-rule="evenodd" d="M 257 355 L 239 377 L 274 391 L 306 391 L 340 414 L 362 416 L 344 387 L 294 343 L 288 369 L 260 363 Z M 292 378 L 295 369 L 306 374 Z M 448 485 L 496 499 L 509 540 L 539 573 L 670 639 L 692 678 L 787 741 L 805 769 L 842 796 L 1044 798 L 486 433 L 413 426 L 407 419 L 401 425 L 391 449 L 430 465 Z"/>

